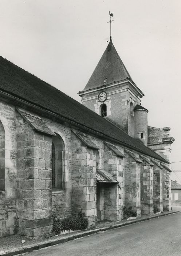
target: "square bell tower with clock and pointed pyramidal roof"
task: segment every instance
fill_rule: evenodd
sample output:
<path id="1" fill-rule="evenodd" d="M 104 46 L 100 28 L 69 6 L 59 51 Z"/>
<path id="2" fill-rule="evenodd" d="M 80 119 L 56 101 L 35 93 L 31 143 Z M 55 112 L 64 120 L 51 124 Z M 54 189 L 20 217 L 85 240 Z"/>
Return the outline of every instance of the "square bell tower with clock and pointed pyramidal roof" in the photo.
<path id="1" fill-rule="evenodd" d="M 134 137 L 134 108 L 143 93 L 133 82 L 119 57 L 112 39 L 85 88 L 82 104 Z"/>

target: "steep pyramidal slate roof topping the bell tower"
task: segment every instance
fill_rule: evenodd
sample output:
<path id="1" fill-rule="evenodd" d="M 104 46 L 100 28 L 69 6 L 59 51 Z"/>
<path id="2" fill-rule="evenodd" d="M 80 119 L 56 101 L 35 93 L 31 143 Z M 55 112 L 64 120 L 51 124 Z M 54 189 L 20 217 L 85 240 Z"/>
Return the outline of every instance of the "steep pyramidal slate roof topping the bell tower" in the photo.
<path id="1" fill-rule="evenodd" d="M 107 78 L 106 83 L 104 83 L 105 78 Z M 102 86 L 103 84 L 105 85 L 122 81 L 127 78 L 131 79 L 131 76 L 110 39 L 110 42 L 99 60 L 97 67 L 94 69 L 86 87 L 82 91 L 94 89 Z"/>

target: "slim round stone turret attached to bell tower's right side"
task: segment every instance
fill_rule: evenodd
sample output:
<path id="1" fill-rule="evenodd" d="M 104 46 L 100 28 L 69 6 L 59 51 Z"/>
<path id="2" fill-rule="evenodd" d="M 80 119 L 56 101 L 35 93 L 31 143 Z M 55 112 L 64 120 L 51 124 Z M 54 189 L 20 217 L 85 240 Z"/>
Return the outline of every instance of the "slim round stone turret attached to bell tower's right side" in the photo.
<path id="1" fill-rule="evenodd" d="M 141 105 L 134 108 L 134 137 L 139 139 L 145 146 L 148 142 L 148 110 Z"/>

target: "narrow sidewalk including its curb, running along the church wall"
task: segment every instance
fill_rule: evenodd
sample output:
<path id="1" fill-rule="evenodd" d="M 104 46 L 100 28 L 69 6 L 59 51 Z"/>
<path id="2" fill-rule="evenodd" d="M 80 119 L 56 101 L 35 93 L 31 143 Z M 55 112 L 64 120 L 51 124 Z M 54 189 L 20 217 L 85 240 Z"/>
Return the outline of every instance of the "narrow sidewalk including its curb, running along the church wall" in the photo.
<path id="1" fill-rule="evenodd" d="M 170 212 L 164 212 L 162 214 L 156 214 L 153 216 L 143 216 L 141 218 L 133 219 L 133 220 L 125 220 L 125 221 L 99 221 L 97 222 L 97 225 L 90 230 L 83 230 L 79 232 L 74 232 L 70 234 L 64 234 L 59 236 L 54 236 L 50 238 L 41 238 L 38 240 L 31 240 L 24 236 L 19 235 L 13 235 L 8 237 L 1 237 L 0 238 L 0 256 L 7 255 L 17 255 L 20 253 L 25 252 L 32 252 L 34 250 L 38 250 L 47 246 L 52 246 L 55 244 L 60 244 L 63 242 L 67 242 L 70 240 L 74 240 L 75 238 L 88 236 L 90 234 L 95 234 L 101 231 L 109 230 L 109 229 L 115 229 L 117 227 L 122 227 L 126 225 L 130 225 L 133 223 L 141 222 L 141 221 L 147 221 L 149 219 L 163 217 L 165 215 L 178 213 L 180 211 L 170 211 Z M 25 243 L 22 244 L 21 241 L 25 240 Z"/>

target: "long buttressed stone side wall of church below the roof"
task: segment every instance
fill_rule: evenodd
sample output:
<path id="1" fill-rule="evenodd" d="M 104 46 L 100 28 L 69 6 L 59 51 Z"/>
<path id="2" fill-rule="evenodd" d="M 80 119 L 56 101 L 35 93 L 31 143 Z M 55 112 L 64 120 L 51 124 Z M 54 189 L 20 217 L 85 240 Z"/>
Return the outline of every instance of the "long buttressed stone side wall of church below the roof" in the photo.
<path id="1" fill-rule="evenodd" d="M 71 211 L 82 209 L 90 226 L 97 216 L 102 220 L 121 220 L 123 206 L 133 206 L 137 215 L 141 210 L 152 215 L 153 200 L 162 209 L 162 195 L 164 208 L 170 210 L 168 171 L 164 169 L 162 174 L 157 165 L 139 162 L 140 155 L 131 150 L 136 161 L 117 145 L 124 155 L 120 157 L 103 139 L 86 134 L 99 149 L 88 147 L 68 125 L 41 118 L 65 145 L 64 189 L 52 190 L 53 136 L 35 131 L 15 107 L 1 102 L 0 128 L 4 130 L 0 129 L 0 162 L 5 161 L 5 166 L 4 176 L 1 170 L 0 177 L 4 177 L 5 189 L 0 191 L 0 236 L 16 232 L 36 238 L 44 236 L 52 230 L 52 212 L 64 218 Z M 97 184 L 97 169 L 109 173 L 118 184 Z"/>

